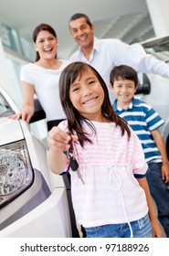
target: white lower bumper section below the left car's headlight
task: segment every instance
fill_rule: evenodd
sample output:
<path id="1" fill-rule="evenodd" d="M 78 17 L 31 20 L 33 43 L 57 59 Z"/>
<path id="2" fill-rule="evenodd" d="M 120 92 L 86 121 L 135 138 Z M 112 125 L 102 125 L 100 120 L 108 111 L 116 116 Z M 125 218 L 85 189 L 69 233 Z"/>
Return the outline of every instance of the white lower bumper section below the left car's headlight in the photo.
<path id="1" fill-rule="evenodd" d="M 55 188 L 52 194 L 37 208 L 0 231 L 4 238 L 68 238 L 71 229 L 66 192 L 63 187 Z M 53 216 L 54 218 L 51 218 Z"/>

